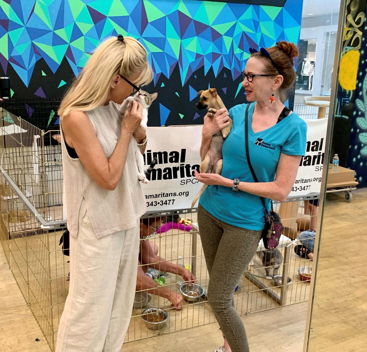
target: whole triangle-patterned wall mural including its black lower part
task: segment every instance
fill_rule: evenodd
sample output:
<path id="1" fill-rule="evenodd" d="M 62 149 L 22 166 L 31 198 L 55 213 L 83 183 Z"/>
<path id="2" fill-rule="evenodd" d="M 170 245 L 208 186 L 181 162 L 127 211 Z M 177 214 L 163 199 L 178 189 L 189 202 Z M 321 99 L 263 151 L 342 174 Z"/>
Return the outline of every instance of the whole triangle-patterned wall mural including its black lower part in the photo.
<path id="1" fill-rule="evenodd" d="M 13 99 L 62 96 L 101 40 L 123 34 L 145 45 L 154 70 L 149 124 L 201 123 L 196 92 L 215 87 L 228 107 L 244 102 L 248 48 L 298 43 L 302 3 L 2 0 L 0 75 L 11 77 Z"/>

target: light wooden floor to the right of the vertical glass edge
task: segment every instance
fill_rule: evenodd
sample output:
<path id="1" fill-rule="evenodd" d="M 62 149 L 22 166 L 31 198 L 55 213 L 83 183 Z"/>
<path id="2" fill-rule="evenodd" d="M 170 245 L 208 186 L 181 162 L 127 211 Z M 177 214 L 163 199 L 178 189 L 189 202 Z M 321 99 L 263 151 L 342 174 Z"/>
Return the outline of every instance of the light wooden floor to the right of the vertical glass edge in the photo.
<path id="1" fill-rule="evenodd" d="M 367 188 L 327 196 L 310 352 L 367 351 L 366 208 Z"/>

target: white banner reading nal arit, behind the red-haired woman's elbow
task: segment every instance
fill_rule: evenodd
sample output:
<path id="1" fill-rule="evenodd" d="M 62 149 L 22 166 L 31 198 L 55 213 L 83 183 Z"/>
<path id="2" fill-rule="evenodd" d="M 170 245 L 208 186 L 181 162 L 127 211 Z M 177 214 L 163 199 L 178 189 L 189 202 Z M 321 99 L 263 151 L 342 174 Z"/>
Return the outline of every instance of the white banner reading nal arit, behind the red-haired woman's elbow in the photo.
<path id="1" fill-rule="evenodd" d="M 320 193 L 321 189 L 327 119 L 305 121 L 307 123 L 306 155 L 301 159 L 289 197 Z"/>

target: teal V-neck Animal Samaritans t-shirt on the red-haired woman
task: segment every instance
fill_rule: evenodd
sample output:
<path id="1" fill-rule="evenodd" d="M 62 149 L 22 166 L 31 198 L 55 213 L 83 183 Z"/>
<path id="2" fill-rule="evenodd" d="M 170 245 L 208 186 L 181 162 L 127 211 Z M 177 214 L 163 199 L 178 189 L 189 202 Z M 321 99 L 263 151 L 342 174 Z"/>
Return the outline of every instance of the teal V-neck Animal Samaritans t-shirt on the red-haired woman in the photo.
<path id="1" fill-rule="evenodd" d="M 232 129 L 223 144 L 223 170 L 228 179 L 254 182 L 248 167 L 245 150 L 246 104 L 229 110 Z M 297 114 L 291 113 L 274 126 L 254 133 L 251 128 L 255 104 L 248 109 L 248 146 L 252 168 L 259 182 L 273 182 L 280 153 L 305 155 L 307 125 Z M 248 230 L 264 228 L 264 206 L 257 195 L 243 191 L 233 192 L 225 186 L 208 186 L 199 203 L 217 219 Z M 270 199 L 266 199 L 270 209 Z"/>

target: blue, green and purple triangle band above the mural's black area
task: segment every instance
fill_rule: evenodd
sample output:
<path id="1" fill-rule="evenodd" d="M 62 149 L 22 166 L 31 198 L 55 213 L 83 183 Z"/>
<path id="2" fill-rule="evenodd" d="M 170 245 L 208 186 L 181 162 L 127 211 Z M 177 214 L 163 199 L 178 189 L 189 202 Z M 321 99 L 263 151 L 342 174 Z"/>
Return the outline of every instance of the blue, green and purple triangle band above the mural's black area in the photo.
<path id="1" fill-rule="evenodd" d="M 55 73 L 63 58 L 75 75 L 109 36 L 131 36 L 148 50 L 154 84 L 178 65 L 182 86 L 197 69 L 240 76 L 249 47 L 298 43 L 302 0 L 284 8 L 193 0 L 0 1 L 0 73 L 8 63 L 28 87 L 43 59 Z"/>

